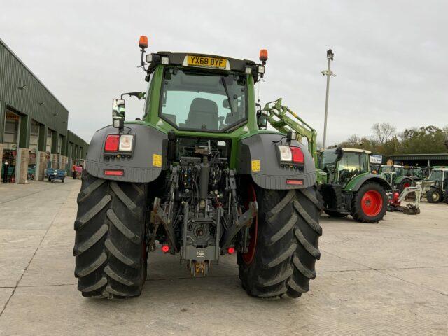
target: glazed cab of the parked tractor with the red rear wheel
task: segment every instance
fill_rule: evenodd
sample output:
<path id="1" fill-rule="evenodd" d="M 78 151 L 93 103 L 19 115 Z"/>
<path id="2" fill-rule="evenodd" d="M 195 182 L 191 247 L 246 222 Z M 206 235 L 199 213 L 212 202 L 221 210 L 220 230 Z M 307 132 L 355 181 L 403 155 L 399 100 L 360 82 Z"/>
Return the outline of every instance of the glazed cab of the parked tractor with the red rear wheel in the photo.
<path id="1" fill-rule="evenodd" d="M 321 153 L 319 168 L 327 173 L 327 183 L 345 185 L 354 176 L 370 172 L 370 151 L 331 148 Z"/>

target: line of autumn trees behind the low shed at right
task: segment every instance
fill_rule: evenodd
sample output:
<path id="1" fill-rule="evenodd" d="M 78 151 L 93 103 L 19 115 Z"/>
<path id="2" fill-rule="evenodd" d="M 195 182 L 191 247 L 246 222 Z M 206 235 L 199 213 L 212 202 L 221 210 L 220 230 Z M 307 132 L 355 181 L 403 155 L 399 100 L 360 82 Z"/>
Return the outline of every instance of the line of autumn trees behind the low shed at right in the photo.
<path id="1" fill-rule="evenodd" d="M 397 132 L 390 123 L 372 125 L 372 134 L 360 137 L 353 134 L 339 144 L 342 147 L 361 148 L 382 155 L 448 153 L 448 125 L 412 127 Z"/>

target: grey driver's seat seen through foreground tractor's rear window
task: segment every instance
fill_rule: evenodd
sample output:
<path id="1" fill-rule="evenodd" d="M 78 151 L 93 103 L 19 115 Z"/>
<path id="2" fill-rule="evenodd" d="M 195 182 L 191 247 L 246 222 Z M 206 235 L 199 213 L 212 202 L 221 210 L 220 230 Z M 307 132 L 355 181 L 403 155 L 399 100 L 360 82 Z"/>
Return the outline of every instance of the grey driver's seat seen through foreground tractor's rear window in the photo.
<path id="1" fill-rule="evenodd" d="M 210 99 L 195 98 L 191 102 L 186 127 L 218 130 L 218 105 Z"/>

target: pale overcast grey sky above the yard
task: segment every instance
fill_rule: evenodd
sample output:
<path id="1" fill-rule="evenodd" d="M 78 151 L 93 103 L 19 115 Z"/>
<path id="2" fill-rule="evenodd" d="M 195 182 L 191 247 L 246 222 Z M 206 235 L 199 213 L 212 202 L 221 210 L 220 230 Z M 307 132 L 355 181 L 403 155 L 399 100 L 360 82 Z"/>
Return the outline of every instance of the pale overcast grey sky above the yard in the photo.
<path id="1" fill-rule="evenodd" d="M 150 52 L 269 60 L 262 102 L 283 97 L 323 134 L 326 50 L 332 48 L 328 143 L 372 123 L 448 124 L 448 1 L 6 1 L 0 37 L 69 110 L 90 141 L 111 101 L 146 90 L 138 40 Z M 127 99 L 127 120 L 143 103 Z"/>

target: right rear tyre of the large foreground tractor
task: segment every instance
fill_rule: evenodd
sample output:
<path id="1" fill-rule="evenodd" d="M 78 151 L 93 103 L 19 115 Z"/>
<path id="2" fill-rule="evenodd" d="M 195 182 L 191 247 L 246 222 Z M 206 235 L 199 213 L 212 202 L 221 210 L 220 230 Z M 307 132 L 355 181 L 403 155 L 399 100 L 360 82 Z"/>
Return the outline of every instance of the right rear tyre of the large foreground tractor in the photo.
<path id="1" fill-rule="evenodd" d="M 248 295 L 300 297 L 316 277 L 321 198 L 316 187 L 265 190 L 254 187 L 258 216 L 247 253 L 238 253 L 239 278 Z"/>

